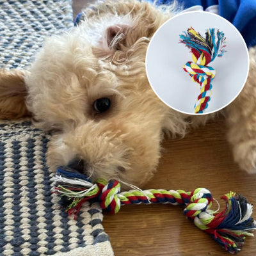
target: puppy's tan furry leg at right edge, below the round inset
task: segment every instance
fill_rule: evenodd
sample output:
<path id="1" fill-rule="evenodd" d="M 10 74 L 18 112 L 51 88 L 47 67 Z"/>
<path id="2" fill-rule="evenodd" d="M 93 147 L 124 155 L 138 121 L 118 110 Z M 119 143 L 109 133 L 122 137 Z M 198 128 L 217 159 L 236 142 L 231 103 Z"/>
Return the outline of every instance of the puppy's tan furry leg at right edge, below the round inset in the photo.
<path id="1" fill-rule="evenodd" d="M 234 160 L 248 173 L 256 173 L 256 49 L 250 49 L 250 70 L 246 84 L 227 107 L 228 141 Z"/>

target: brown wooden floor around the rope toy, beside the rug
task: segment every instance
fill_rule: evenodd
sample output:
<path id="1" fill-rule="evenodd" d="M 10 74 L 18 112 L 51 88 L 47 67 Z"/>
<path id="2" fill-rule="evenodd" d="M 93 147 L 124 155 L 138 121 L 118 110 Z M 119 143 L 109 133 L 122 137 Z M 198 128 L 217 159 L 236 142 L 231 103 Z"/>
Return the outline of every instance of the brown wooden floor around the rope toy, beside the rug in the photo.
<path id="1" fill-rule="evenodd" d="M 86 0 L 74 0 L 74 16 Z M 256 175 L 239 170 L 225 140 L 220 118 L 180 140 L 166 140 L 158 172 L 147 188 L 208 188 L 218 199 L 229 191 L 256 201 Z M 219 200 L 219 202 L 221 202 Z M 221 203 L 221 209 L 223 209 Z M 217 209 L 218 205 L 214 205 Z M 256 209 L 253 213 L 256 219 Z M 172 205 L 128 205 L 118 214 L 104 215 L 104 228 L 116 256 L 228 255 L 207 234 L 186 220 L 182 208 Z M 256 255 L 255 237 L 247 237 L 240 256 Z"/>

